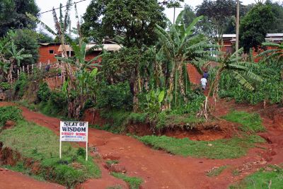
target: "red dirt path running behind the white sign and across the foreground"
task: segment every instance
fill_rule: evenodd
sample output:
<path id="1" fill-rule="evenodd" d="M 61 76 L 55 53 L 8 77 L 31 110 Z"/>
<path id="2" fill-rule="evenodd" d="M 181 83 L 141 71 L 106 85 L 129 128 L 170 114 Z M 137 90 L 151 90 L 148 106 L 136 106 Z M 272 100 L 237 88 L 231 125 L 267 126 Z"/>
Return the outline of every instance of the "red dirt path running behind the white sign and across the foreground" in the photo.
<path id="1" fill-rule="evenodd" d="M 7 105 L 7 103 L 0 103 L 0 105 Z M 230 108 L 237 107 L 240 106 L 223 101 L 221 108 L 218 108 L 216 112 L 218 115 L 223 115 Z M 240 108 L 245 109 L 246 107 Z M 248 108 L 246 109 L 249 110 Z M 59 134 L 59 120 L 57 118 L 31 112 L 27 108 L 22 109 L 26 120 L 48 127 Z M 260 109 L 258 108 L 256 111 L 258 110 Z M 268 132 L 262 135 L 266 135 L 265 138 L 270 139 L 272 144 L 262 145 L 266 149 L 250 149 L 247 156 L 240 159 L 212 160 L 173 156 L 164 151 L 156 151 L 146 147 L 132 137 L 94 129 L 88 131 L 88 141 L 90 146 L 96 146 L 98 153 L 104 158 L 119 159 L 119 164 L 127 168 L 127 175 L 143 178 L 142 188 L 227 188 L 229 184 L 239 181 L 258 168 L 265 166 L 267 161 L 270 164 L 283 162 L 283 132 L 267 116 L 262 114 L 262 119 L 268 129 Z M 206 171 L 215 166 L 224 165 L 241 169 L 241 175 L 233 176 L 231 170 L 227 169 L 220 176 L 213 178 L 206 176 Z M 102 168 L 101 164 L 100 168 Z M 81 188 L 105 188 L 121 184 L 121 181 L 109 176 L 107 170 L 102 168 L 102 171 L 101 179 L 86 181 L 81 185 Z"/>

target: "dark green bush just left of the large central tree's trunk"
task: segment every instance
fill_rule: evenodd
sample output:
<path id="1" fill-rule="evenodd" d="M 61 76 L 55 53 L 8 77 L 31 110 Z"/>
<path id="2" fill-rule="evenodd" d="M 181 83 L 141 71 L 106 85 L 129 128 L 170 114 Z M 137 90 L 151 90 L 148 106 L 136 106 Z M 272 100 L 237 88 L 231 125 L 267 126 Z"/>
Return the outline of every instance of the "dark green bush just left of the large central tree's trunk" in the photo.
<path id="1" fill-rule="evenodd" d="M 96 97 L 98 108 L 132 110 L 132 93 L 129 84 L 119 83 L 100 87 Z"/>

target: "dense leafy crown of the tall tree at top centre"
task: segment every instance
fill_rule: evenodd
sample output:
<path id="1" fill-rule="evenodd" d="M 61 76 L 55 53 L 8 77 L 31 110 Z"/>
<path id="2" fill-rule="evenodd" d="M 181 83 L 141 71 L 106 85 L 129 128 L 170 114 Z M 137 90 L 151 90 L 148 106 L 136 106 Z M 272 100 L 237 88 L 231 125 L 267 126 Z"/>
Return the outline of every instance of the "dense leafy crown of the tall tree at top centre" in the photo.
<path id="1" fill-rule="evenodd" d="M 155 25 L 165 25 L 157 0 L 92 0 L 83 16 L 82 32 L 101 42 L 115 38 L 125 47 L 153 45 Z"/>

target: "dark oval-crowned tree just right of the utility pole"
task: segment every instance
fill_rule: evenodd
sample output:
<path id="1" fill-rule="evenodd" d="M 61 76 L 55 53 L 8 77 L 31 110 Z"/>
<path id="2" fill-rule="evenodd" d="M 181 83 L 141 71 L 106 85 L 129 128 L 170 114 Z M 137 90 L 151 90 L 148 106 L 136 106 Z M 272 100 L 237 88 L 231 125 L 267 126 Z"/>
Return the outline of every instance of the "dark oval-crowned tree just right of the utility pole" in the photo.
<path id="1" fill-rule="evenodd" d="M 242 19 L 240 25 L 240 44 L 244 52 L 249 52 L 251 48 L 258 50 L 274 22 L 275 16 L 269 4 L 254 6 Z"/>

